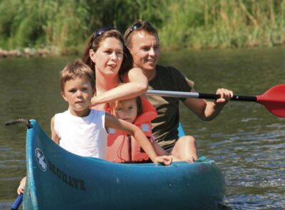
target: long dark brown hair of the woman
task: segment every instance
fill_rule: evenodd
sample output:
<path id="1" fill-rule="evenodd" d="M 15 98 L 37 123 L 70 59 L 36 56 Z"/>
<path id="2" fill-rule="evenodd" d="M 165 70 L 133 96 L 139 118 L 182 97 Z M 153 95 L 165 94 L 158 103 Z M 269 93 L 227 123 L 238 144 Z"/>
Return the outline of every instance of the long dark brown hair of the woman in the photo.
<path id="1" fill-rule="evenodd" d="M 120 80 L 123 81 L 123 74 L 125 74 L 125 72 L 133 68 L 133 56 L 130 54 L 128 48 L 125 46 L 125 41 L 123 39 L 123 36 L 120 34 L 120 31 L 118 31 L 117 29 L 110 29 L 108 31 L 103 31 L 100 34 L 96 33 L 95 31 L 91 36 L 89 36 L 88 41 L 86 43 L 85 51 L 81 59 L 85 64 L 87 64 L 90 67 L 90 69 L 94 71 L 95 75 L 95 63 L 90 59 L 89 51 L 90 49 L 93 49 L 93 51 L 96 52 L 98 48 L 101 46 L 102 42 L 110 37 L 118 39 L 118 41 L 120 41 L 120 43 L 123 45 L 123 62 L 119 70 Z"/>

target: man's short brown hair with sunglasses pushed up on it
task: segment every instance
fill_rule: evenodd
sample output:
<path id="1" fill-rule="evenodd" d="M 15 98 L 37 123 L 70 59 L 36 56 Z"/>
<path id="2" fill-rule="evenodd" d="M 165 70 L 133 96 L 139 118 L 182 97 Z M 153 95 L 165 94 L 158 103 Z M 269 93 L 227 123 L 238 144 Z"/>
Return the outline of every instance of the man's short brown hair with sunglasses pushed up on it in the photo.
<path id="1" fill-rule="evenodd" d="M 155 28 L 147 21 L 138 20 L 133 25 L 128 27 L 124 34 L 125 46 L 130 46 L 130 40 L 138 31 L 146 31 L 147 34 L 156 35 L 158 38 L 157 31 Z"/>

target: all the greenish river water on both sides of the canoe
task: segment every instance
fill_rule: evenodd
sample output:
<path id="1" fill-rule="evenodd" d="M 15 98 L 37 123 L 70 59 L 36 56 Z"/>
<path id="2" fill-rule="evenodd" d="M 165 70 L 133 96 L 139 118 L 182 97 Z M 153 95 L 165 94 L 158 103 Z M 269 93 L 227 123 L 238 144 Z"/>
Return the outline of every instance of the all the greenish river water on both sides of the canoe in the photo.
<path id="1" fill-rule="evenodd" d="M 172 51 L 161 64 L 176 66 L 195 81 L 195 90 L 219 87 L 258 95 L 285 84 L 285 49 Z M 10 119 L 36 119 L 50 134 L 53 114 L 67 108 L 58 71 L 74 57 L 0 59 L 0 209 L 16 199 L 25 175 L 24 125 Z M 285 119 L 252 102 L 230 101 L 213 121 L 201 121 L 181 106 L 182 124 L 197 139 L 199 152 L 217 162 L 227 180 L 225 206 L 232 209 L 285 209 Z"/>

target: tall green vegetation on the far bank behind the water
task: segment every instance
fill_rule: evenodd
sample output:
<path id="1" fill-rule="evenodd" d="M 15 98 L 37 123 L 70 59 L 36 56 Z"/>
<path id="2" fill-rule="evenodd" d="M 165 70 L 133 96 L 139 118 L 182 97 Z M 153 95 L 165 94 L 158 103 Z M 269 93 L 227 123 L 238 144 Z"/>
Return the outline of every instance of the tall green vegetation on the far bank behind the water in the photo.
<path id="1" fill-rule="evenodd" d="M 0 49 L 78 54 L 99 26 L 123 33 L 137 19 L 164 48 L 285 44 L 285 0 L 1 0 Z"/>

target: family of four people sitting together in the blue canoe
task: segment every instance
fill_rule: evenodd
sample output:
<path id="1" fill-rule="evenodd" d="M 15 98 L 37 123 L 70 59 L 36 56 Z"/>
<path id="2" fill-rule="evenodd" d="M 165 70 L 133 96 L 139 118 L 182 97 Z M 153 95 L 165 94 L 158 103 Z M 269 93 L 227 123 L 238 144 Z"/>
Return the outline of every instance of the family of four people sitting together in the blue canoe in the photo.
<path id="1" fill-rule="evenodd" d="M 194 82 L 180 71 L 157 65 L 159 57 L 157 31 L 146 21 L 124 36 L 113 27 L 96 30 L 82 58 L 61 71 L 61 96 L 69 106 L 51 119 L 51 139 L 74 154 L 120 163 L 197 160 L 195 138 L 178 136 L 179 102 L 211 120 L 233 93 L 217 89 L 221 97 L 215 101 L 146 96 L 147 89 L 194 91 Z"/>

